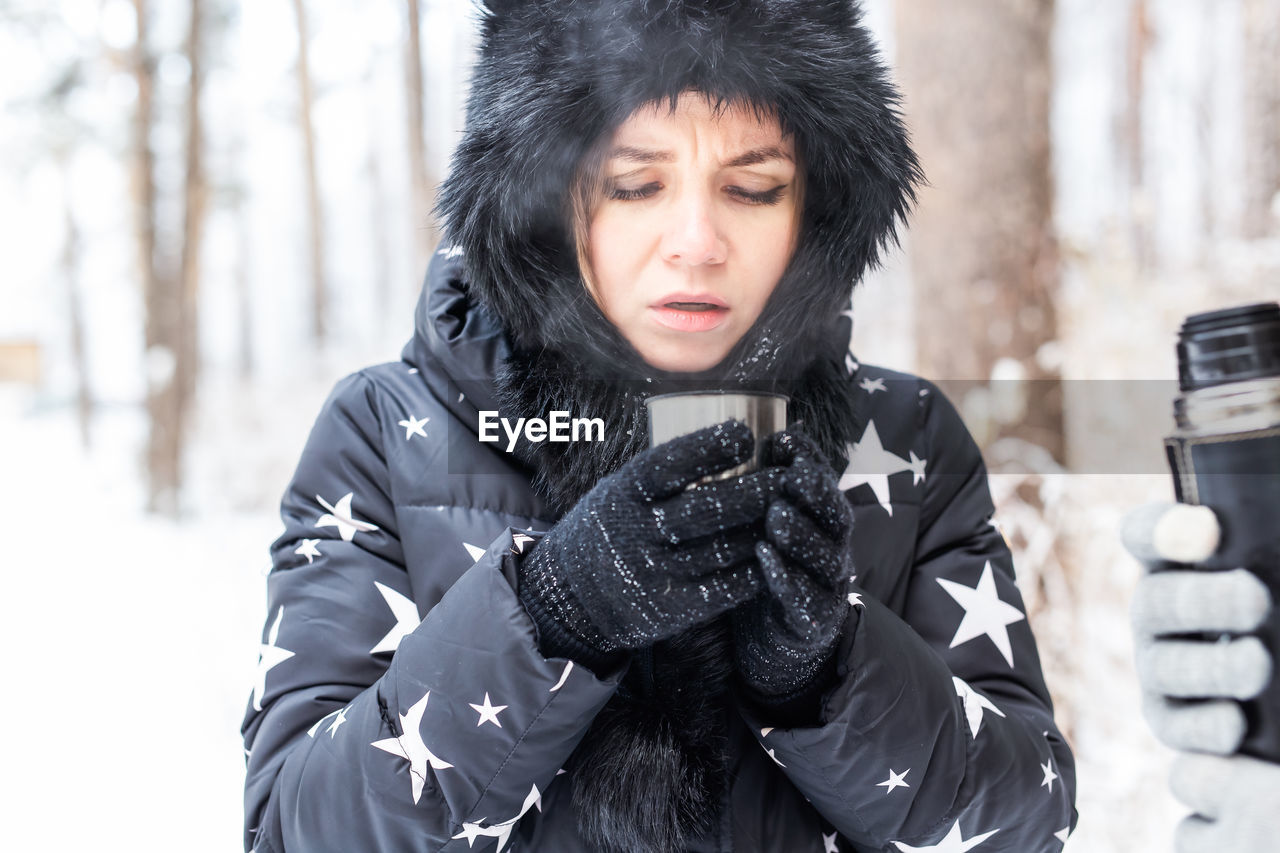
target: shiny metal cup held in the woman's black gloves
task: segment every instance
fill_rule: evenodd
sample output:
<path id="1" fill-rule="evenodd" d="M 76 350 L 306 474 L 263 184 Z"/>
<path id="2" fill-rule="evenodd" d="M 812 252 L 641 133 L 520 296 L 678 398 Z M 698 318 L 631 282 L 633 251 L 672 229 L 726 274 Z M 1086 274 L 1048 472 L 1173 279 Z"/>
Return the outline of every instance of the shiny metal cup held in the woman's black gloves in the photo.
<path id="1" fill-rule="evenodd" d="M 755 438 L 751 459 L 727 471 L 709 474 L 696 480 L 727 480 L 750 474 L 760 467 L 762 441 L 767 435 L 787 428 L 787 402 L 785 394 L 740 393 L 730 391 L 699 391 L 690 393 L 658 394 L 645 400 L 649 409 L 649 447 L 657 447 L 678 435 L 714 426 L 726 420 L 741 420 Z"/>

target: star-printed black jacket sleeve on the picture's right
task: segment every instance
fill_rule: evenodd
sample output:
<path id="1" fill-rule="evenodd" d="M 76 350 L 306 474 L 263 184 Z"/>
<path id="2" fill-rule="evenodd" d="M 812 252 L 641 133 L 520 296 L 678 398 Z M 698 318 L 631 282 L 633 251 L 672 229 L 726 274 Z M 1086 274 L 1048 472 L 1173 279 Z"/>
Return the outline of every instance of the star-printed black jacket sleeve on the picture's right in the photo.
<path id="1" fill-rule="evenodd" d="M 1057 853 L 1076 821 L 1074 758 L 982 456 L 941 392 L 920 389 L 932 473 L 902 615 L 869 596 L 851 608 L 820 725 L 744 715 L 858 849 Z"/>

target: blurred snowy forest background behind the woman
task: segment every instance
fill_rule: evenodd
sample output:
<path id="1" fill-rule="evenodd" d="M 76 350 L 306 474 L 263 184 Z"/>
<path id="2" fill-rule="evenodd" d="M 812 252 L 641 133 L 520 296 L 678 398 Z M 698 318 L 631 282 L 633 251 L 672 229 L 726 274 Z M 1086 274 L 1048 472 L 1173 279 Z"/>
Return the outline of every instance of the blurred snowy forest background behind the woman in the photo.
<path id="1" fill-rule="evenodd" d="M 983 447 L 1078 761 L 1066 849 L 1164 853 L 1117 530 L 1172 500 L 1181 320 L 1280 298 L 1280 0 L 864 5 L 929 186 L 852 352 Z M 412 333 L 475 27 L 0 0 L 4 707 L 41 730 L 6 848 L 238 849 L 276 506 L 333 384 Z"/>

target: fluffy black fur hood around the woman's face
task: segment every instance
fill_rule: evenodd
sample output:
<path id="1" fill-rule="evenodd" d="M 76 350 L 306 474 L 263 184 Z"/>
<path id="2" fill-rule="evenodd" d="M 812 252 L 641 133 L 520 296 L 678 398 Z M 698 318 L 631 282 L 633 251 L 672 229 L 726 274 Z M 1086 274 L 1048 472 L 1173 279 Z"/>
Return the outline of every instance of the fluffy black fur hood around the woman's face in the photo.
<path id="1" fill-rule="evenodd" d="M 645 104 L 698 90 L 776 109 L 805 164 L 801 238 L 717 382 L 795 379 L 896 240 L 920 179 L 852 0 L 486 0 L 466 127 L 438 213 L 517 351 L 654 371 L 584 287 L 568 216 L 582 156 Z M 847 338 L 845 341 L 847 345 Z"/>

